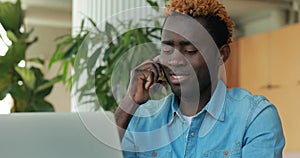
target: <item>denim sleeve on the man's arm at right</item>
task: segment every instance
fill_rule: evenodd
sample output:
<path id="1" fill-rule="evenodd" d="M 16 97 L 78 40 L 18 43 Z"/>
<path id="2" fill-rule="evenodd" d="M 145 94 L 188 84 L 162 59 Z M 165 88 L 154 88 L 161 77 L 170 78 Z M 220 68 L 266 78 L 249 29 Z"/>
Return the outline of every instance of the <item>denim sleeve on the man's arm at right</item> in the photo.
<path id="1" fill-rule="evenodd" d="M 250 120 L 244 136 L 242 157 L 282 158 L 285 139 L 275 106 L 258 106 Z"/>

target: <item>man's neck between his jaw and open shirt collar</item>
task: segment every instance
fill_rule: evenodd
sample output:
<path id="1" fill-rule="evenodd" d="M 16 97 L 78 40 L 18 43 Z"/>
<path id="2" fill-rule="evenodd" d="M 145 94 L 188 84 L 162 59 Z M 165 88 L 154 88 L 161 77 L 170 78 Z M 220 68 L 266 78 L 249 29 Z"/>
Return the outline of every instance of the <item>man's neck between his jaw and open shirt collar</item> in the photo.
<path id="1" fill-rule="evenodd" d="M 201 95 L 199 98 L 179 98 L 179 108 L 182 114 L 186 116 L 193 116 L 199 113 L 210 101 L 216 85 L 217 82 L 211 83 L 201 89 Z"/>

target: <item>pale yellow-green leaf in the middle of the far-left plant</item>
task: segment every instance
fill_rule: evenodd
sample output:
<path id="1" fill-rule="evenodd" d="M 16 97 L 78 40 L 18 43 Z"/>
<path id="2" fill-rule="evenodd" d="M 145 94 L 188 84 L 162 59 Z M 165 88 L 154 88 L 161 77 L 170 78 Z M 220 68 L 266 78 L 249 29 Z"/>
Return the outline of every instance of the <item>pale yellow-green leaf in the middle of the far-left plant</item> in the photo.
<path id="1" fill-rule="evenodd" d="M 34 72 L 27 68 L 15 67 L 15 70 L 23 79 L 24 83 L 28 86 L 29 89 L 33 90 L 35 86 L 35 75 Z"/>

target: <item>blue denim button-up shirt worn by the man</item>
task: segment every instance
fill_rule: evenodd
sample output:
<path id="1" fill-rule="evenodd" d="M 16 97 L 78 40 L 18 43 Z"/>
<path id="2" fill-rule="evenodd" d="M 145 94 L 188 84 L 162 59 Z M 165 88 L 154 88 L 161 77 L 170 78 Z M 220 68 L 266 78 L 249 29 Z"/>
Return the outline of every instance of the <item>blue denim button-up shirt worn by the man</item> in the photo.
<path id="1" fill-rule="evenodd" d="M 191 124 L 170 94 L 141 105 L 122 140 L 125 158 L 281 158 L 284 145 L 275 106 L 244 89 L 227 90 L 222 81 Z"/>

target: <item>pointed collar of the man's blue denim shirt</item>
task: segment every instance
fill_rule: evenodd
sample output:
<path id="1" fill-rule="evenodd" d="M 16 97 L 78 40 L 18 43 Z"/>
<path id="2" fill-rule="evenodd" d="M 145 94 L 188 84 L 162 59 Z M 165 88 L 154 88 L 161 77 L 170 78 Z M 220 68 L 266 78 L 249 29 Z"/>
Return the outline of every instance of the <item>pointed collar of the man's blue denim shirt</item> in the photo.
<path id="1" fill-rule="evenodd" d="M 179 111 L 178 106 L 178 99 L 172 93 L 170 96 L 170 105 L 171 105 L 171 112 L 169 113 L 168 124 L 173 122 L 174 117 L 178 116 L 180 119 L 183 120 L 182 114 Z M 214 119 L 219 121 L 224 121 L 225 119 L 225 110 L 224 110 L 224 103 L 226 97 L 226 85 L 222 80 L 218 81 L 216 89 L 210 98 L 210 101 L 206 104 L 203 110 L 207 111 Z M 202 111 L 203 111 L 202 110 Z M 198 115 L 198 114 L 197 114 Z"/>

